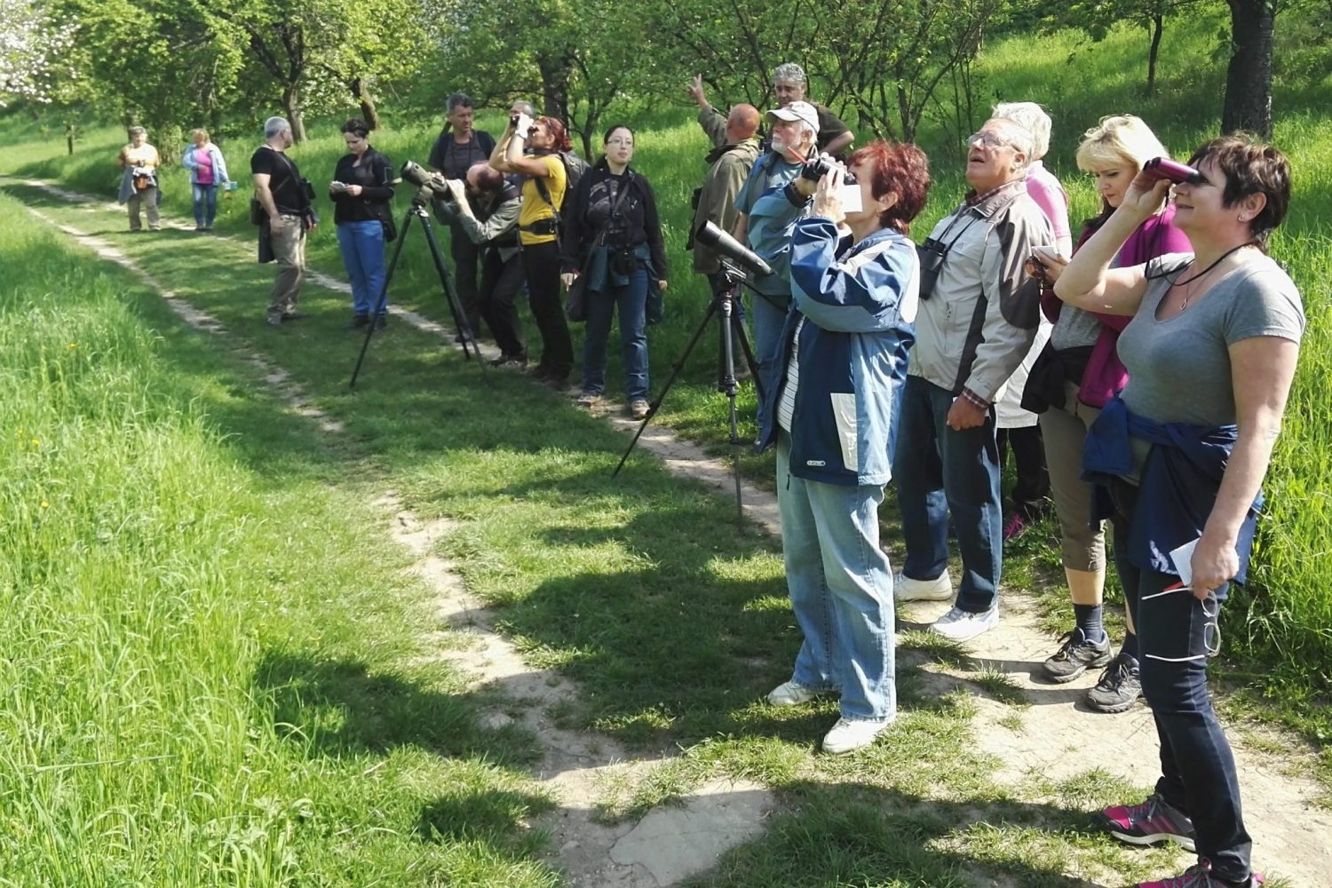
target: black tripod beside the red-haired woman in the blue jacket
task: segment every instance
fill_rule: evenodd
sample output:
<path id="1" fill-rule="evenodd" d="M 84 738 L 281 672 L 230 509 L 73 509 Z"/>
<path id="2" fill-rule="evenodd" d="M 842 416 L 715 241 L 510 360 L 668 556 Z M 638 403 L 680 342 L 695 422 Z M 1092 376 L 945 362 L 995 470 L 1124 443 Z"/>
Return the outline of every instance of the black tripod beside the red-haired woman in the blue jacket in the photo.
<path id="1" fill-rule="evenodd" d="M 754 389 L 758 391 L 759 402 L 763 399 L 763 383 L 758 375 L 758 362 L 754 359 L 754 349 L 750 347 L 749 335 L 745 333 L 745 321 L 741 320 L 738 306 L 741 298 L 741 285 L 745 282 L 745 272 L 730 264 L 729 261 L 722 261 L 722 284 L 713 292 L 713 300 L 707 306 L 707 312 L 703 314 L 703 320 L 699 321 L 698 328 L 694 330 L 694 335 L 690 337 L 689 343 L 685 350 L 671 365 L 670 375 L 666 377 L 666 385 L 657 394 L 657 398 L 649 402 L 647 415 L 638 425 L 638 431 L 634 433 L 634 439 L 629 442 L 629 447 L 625 449 L 625 454 L 619 458 L 619 465 L 615 466 L 615 471 L 611 477 L 619 474 L 619 470 L 625 467 L 625 462 L 629 459 L 629 454 L 634 451 L 638 445 L 638 439 L 647 430 L 647 423 L 653 421 L 657 415 L 657 409 L 661 406 L 662 401 L 666 399 L 666 393 L 670 391 L 671 385 L 679 377 L 681 371 L 685 369 L 685 363 L 689 361 L 690 353 L 694 346 L 703 337 L 703 332 L 707 330 L 707 324 L 715 316 L 721 316 L 721 354 L 718 355 L 718 385 L 717 390 L 726 395 L 729 402 L 729 421 L 730 421 L 730 445 L 735 447 L 733 454 L 733 465 L 735 470 L 735 519 L 743 523 L 745 507 L 741 499 L 741 453 L 739 447 L 750 442 L 741 438 L 739 434 L 739 421 L 735 411 L 735 394 L 739 386 L 735 381 L 735 341 L 739 339 L 741 351 L 745 357 L 745 365 L 749 367 L 750 377 L 754 379 Z M 757 296 L 763 297 L 762 293 L 755 292 Z M 767 298 L 767 297 L 763 297 Z"/>

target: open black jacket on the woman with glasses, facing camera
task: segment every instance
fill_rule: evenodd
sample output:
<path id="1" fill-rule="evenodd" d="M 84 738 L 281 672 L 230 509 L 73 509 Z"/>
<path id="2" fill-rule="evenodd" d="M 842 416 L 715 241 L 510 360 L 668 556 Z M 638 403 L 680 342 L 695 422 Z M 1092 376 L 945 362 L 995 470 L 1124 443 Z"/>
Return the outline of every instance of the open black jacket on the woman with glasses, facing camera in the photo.
<path id="1" fill-rule="evenodd" d="M 561 265 L 565 272 L 577 270 L 581 266 L 582 256 L 597 240 L 603 220 L 593 218 L 590 213 L 591 196 L 598 185 L 605 188 L 605 182 L 611 178 L 621 177 L 610 174 L 606 158 L 602 157 L 578 180 L 578 189 L 567 205 L 567 212 L 563 213 L 565 232 L 559 238 Z M 658 278 L 665 281 L 667 280 L 666 244 L 662 240 L 662 224 L 657 214 L 657 197 L 653 194 L 653 186 L 633 168 L 626 169 L 622 178 L 629 182 L 631 190 L 621 204 L 615 224 L 605 242 L 611 248 L 627 249 L 647 244 L 651 250 L 653 270 Z"/>

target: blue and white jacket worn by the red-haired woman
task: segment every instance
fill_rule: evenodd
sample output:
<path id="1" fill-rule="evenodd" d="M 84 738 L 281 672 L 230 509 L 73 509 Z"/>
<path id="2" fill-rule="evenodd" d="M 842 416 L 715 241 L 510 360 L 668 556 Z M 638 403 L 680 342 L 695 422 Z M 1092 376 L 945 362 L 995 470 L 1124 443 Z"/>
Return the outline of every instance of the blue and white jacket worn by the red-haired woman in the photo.
<path id="1" fill-rule="evenodd" d="M 827 218 L 791 236 L 791 310 L 782 353 L 765 379 L 762 446 L 777 441 L 777 413 L 791 349 L 799 383 L 791 421 L 791 474 L 831 485 L 884 485 L 894 398 L 906 379 L 918 301 L 915 246 L 894 230 L 859 244 Z M 793 343 L 801 318 L 799 342 Z"/>

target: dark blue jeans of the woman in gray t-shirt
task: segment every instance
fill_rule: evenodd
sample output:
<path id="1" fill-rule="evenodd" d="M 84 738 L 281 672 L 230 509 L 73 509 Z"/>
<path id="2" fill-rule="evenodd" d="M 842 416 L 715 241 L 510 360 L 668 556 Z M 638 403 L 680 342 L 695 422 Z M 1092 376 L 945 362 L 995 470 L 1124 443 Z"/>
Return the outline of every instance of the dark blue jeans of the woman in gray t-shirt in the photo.
<path id="1" fill-rule="evenodd" d="M 1249 876 L 1253 840 L 1240 811 L 1239 775 L 1212 699 L 1207 659 L 1220 646 L 1220 603 L 1187 590 L 1164 591 L 1177 576 L 1142 570 L 1119 541 L 1130 538 L 1138 489 L 1114 485 L 1115 566 L 1138 627 L 1138 666 L 1160 742 L 1156 792 L 1193 820 L 1199 859 L 1212 875 L 1241 883 Z"/>

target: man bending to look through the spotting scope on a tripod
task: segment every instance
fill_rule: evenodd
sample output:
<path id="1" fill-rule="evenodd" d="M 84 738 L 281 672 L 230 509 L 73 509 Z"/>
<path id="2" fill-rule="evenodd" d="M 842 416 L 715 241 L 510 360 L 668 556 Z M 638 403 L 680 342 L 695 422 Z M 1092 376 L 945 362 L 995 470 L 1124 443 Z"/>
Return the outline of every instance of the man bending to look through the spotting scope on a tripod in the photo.
<path id="1" fill-rule="evenodd" d="M 477 305 L 500 346 L 500 357 L 492 363 L 522 369 L 527 366 L 527 346 L 515 305 L 522 290 L 522 261 L 518 257 L 522 198 L 518 188 L 492 169 L 489 162 L 473 164 L 466 178 L 449 178 L 446 188 L 449 200 L 442 201 L 441 213 L 476 245 L 481 258 Z"/>

